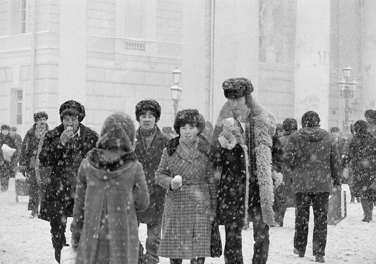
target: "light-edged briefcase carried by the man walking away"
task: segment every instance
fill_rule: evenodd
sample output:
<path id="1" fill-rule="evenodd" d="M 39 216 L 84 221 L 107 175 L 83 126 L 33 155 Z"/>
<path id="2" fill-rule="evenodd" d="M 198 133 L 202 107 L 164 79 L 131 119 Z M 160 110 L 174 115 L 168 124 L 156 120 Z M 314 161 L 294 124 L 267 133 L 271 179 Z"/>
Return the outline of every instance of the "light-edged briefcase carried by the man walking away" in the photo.
<path id="1" fill-rule="evenodd" d="M 328 225 L 337 225 L 346 218 L 346 191 L 335 192 L 329 198 Z"/>

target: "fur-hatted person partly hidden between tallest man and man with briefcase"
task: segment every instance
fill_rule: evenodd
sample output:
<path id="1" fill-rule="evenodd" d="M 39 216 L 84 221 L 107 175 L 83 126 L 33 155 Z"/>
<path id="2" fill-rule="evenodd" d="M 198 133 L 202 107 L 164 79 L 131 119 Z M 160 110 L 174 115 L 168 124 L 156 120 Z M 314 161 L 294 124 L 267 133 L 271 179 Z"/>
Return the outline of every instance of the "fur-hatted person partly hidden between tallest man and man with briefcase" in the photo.
<path id="1" fill-rule="evenodd" d="M 284 134 L 279 138 L 281 147 L 284 148 L 290 135 L 298 130 L 298 123 L 294 118 L 286 118 L 282 123 Z M 293 195 L 293 185 L 291 181 L 291 170 L 286 165 L 282 165 L 283 180 L 274 192 L 274 212 L 277 225 L 284 224 L 286 209 L 295 206 L 295 197 Z"/>

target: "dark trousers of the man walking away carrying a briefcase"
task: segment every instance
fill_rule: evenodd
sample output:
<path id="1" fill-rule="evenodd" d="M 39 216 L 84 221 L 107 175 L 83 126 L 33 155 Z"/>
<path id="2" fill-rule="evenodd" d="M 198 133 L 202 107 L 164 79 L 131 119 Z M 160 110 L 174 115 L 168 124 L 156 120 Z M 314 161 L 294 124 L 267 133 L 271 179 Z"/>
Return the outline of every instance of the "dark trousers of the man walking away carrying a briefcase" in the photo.
<path id="1" fill-rule="evenodd" d="M 325 256 L 329 193 L 296 193 L 294 247 L 300 253 L 306 251 L 311 201 L 314 215 L 313 255 Z"/>

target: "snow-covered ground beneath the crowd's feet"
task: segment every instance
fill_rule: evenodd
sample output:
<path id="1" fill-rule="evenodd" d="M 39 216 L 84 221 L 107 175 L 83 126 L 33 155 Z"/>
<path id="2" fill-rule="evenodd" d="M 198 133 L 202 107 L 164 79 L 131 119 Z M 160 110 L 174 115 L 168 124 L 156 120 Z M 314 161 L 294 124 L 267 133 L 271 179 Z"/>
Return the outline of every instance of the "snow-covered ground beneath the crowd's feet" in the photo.
<path id="1" fill-rule="evenodd" d="M 361 222 L 363 213 L 359 203 L 349 203 L 349 188 L 343 185 L 347 192 L 347 218 L 337 226 L 328 226 L 326 256 L 328 264 L 375 264 L 376 263 L 376 216 L 370 223 Z M 9 182 L 9 191 L 0 193 L 0 263 L 30 264 L 56 263 L 50 237 L 49 223 L 37 218 L 28 218 L 28 196 L 19 196 L 15 202 L 14 178 Z M 67 242 L 70 243 L 70 223 L 67 224 Z M 252 226 L 252 225 L 251 225 Z M 303 264 L 314 262 L 312 256 L 313 214 L 309 220 L 309 237 L 306 256 L 299 258 L 293 254 L 294 237 L 294 208 L 288 208 L 283 228 L 270 229 L 270 250 L 268 263 Z M 220 227 L 224 243 L 224 228 Z M 146 225 L 140 225 L 140 240 L 145 244 Z M 253 232 L 252 228 L 243 231 L 244 263 L 252 262 Z M 167 258 L 161 258 L 161 264 L 170 263 Z M 183 263 L 189 263 L 188 260 Z M 224 263 L 221 258 L 207 258 L 206 264 Z"/>

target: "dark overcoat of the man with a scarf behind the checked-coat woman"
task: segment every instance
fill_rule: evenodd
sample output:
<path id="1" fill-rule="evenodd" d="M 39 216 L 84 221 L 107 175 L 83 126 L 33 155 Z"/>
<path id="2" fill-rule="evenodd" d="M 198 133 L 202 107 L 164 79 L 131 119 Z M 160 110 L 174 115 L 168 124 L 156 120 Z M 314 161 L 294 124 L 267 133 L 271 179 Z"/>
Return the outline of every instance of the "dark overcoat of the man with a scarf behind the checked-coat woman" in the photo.
<path id="1" fill-rule="evenodd" d="M 135 153 L 138 161 L 143 165 L 147 189 L 150 195 L 149 207 L 145 211 L 136 212 L 137 219 L 140 223 L 145 224 L 162 223 L 166 190 L 156 184 L 155 172 L 158 169 L 159 162 L 161 162 L 162 152 L 167 146 L 168 138 L 157 126 L 156 134 L 147 152 L 145 152 L 141 140 L 140 128 L 137 129 L 136 140 Z"/>

